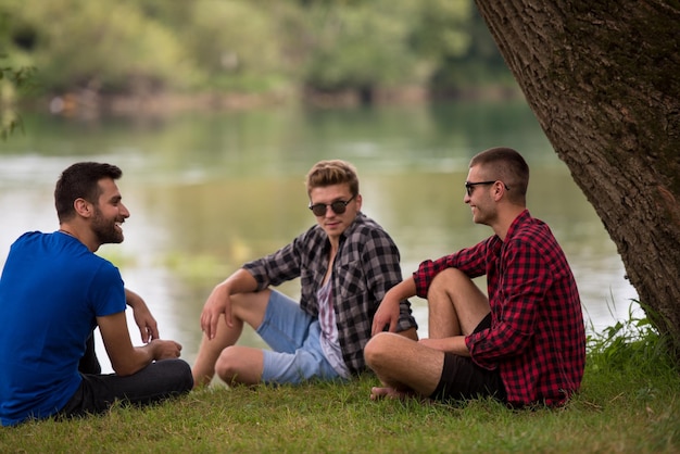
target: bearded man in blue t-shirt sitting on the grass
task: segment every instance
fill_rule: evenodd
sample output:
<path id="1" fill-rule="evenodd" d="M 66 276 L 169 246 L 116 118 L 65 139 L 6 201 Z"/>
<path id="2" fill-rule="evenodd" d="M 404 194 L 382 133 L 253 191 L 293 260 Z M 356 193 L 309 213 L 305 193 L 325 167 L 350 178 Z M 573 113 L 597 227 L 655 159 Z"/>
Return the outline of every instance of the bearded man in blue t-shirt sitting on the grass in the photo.
<path id="1" fill-rule="evenodd" d="M 148 404 L 188 392 L 181 345 L 159 339 L 143 300 L 118 269 L 96 255 L 123 241 L 129 217 L 118 167 L 92 162 L 65 169 L 54 190 L 60 229 L 32 231 L 12 248 L 0 277 L 0 423 L 105 412 L 116 400 Z M 143 346 L 125 317 L 135 311 Z M 99 327 L 115 374 L 100 375 L 92 350 Z"/>

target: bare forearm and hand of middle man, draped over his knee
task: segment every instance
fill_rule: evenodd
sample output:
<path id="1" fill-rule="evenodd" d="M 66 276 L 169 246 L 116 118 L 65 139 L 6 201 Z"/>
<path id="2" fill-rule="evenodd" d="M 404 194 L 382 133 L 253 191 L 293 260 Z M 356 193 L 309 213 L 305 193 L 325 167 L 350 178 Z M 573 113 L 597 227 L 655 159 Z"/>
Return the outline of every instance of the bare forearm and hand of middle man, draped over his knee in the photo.
<path id="1" fill-rule="evenodd" d="M 257 290 L 257 281 L 243 268 L 238 269 L 226 280 L 215 286 L 201 313 L 201 329 L 207 339 L 215 337 L 221 314 L 225 315 L 227 326 L 234 326 L 230 297 L 237 293 L 254 292 L 255 290 Z"/>

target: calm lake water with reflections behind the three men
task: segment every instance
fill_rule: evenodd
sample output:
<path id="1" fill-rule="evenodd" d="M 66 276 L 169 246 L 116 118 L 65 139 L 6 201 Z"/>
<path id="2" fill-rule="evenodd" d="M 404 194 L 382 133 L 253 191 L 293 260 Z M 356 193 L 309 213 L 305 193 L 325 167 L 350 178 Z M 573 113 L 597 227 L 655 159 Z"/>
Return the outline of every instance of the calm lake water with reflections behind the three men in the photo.
<path id="1" fill-rule="evenodd" d="M 601 220 L 524 104 L 268 110 L 97 125 L 26 116 L 25 123 L 26 135 L 0 143 L 0 263 L 22 232 L 58 228 L 52 191 L 63 168 L 83 160 L 119 165 L 131 216 L 125 242 L 100 253 L 144 297 L 161 335 L 182 343 L 189 362 L 213 286 L 314 222 L 303 180 L 322 159 L 357 166 L 364 212 L 394 238 L 408 274 L 424 258 L 490 235 L 463 203 L 467 163 L 486 148 L 514 147 L 531 166 L 529 209 L 563 245 L 593 327 L 627 317 L 635 298 Z M 297 283 L 282 290 L 298 297 Z M 413 303 L 427 336 L 426 303 Z M 136 329 L 133 339 L 139 342 Z M 262 345 L 250 331 L 243 342 Z"/>

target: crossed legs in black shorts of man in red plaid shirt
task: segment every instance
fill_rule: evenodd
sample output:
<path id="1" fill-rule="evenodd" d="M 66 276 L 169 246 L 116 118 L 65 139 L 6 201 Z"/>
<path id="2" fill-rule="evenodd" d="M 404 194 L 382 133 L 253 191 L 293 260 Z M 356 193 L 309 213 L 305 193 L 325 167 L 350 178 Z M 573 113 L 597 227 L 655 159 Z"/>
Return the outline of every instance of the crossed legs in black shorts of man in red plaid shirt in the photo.
<path id="1" fill-rule="evenodd" d="M 366 344 L 366 363 L 383 384 L 370 398 L 504 400 L 498 369 L 476 365 L 465 345 L 465 336 L 491 327 L 487 297 L 464 273 L 449 268 L 432 280 L 427 298 L 429 339 L 380 332 Z"/>

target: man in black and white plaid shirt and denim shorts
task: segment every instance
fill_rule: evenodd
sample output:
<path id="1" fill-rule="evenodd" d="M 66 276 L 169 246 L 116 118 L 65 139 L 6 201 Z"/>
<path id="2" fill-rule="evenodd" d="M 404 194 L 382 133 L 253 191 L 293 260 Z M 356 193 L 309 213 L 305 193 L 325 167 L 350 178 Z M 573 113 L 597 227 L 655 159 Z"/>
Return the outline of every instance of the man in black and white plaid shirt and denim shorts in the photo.
<path id="1" fill-rule="evenodd" d="M 249 262 L 217 285 L 203 307 L 204 336 L 194 386 L 215 373 L 229 384 L 349 379 L 365 370 L 363 349 L 387 291 L 402 280 L 399 250 L 361 212 L 358 177 L 348 162 L 315 164 L 306 179 L 316 225 L 270 255 Z M 297 301 L 273 290 L 300 278 Z M 243 324 L 272 350 L 236 345 Z M 395 330 L 417 339 L 407 300 Z"/>

